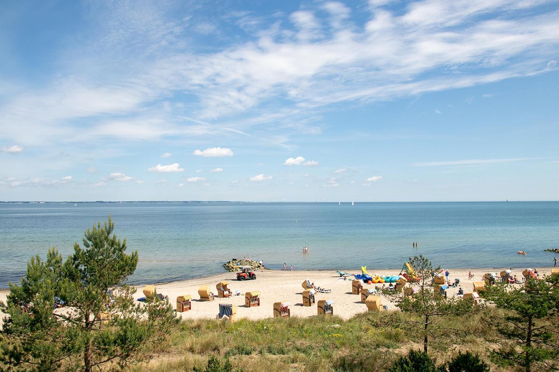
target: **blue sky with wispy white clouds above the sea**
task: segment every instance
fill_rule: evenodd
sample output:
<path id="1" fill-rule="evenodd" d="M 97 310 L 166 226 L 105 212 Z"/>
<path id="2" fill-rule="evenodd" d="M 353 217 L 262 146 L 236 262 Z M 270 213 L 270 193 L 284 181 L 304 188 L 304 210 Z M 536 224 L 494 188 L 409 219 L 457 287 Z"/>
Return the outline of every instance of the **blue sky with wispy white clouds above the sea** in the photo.
<path id="1" fill-rule="evenodd" d="M 0 201 L 559 200 L 559 2 L 7 1 Z"/>

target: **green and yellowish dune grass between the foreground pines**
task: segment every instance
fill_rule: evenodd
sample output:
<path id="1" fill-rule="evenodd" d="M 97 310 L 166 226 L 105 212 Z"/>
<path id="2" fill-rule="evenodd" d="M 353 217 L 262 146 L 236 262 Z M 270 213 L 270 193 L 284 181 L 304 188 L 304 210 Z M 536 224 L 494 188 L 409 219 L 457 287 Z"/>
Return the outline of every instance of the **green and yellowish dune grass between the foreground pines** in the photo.
<path id="1" fill-rule="evenodd" d="M 487 359 L 488 344 L 483 340 L 489 331 L 481 319 L 492 311 L 433 319 L 433 326 L 444 329 L 439 337 L 429 339 L 430 353 L 446 361 L 458 350 L 470 350 Z M 183 321 L 169 335 L 169 344 L 155 350 L 158 356 L 131 370 L 191 371 L 217 355 L 228 357 L 234 368 L 245 372 L 383 371 L 410 348 L 423 347 L 422 336 L 406 331 L 402 322 L 409 320 L 413 318 L 402 312 L 369 312 L 349 320 L 315 316 L 239 319 L 233 324 L 215 319 Z"/>

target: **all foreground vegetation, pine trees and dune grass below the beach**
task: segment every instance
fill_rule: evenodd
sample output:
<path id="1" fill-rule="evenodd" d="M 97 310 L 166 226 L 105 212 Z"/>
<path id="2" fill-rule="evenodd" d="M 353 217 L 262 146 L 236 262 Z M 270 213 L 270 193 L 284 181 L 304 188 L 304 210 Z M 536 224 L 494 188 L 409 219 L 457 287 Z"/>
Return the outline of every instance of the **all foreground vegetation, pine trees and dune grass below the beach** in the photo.
<path id="1" fill-rule="evenodd" d="M 33 257 L 11 284 L 0 332 L 0 371 L 551 371 L 559 364 L 559 275 L 513 289 L 492 285 L 491 306 L 444 301 L 418 268 L 420 290 L 401 311 L 339 317 L 178 322 L 167 301 L 144 306 L 125 283 L 138 256 L 111 235 L 87 230 L 66 260 Z M 118 290 L 113 290 L 115 287 Z M 56 302 L 66 311 L 53 314 Z M 429 349 L 427 346 L 429 345 Z M 425 352 L 429 351 L 429 354 Z"/>

